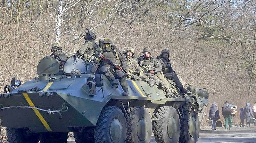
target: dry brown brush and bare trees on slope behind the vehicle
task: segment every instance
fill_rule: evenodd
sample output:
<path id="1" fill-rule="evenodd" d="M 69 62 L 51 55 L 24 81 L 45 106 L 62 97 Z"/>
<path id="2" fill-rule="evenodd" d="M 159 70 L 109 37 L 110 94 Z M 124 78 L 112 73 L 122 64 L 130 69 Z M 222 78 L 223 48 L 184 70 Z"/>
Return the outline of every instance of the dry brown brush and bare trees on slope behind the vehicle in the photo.
<path id="1" fill-rule="evenodd" d="M 173 68 L 187 83 L 208 89 L 210 104 L 255 102 L 253 1 L 63 0 L 63 6 L 77 1 L 62 13 L 65 53 L 78 50 L 90 27 L 121 50 L 134 47 L 136 56 L 145 46 L 154 56 L 169 49 Z M 58 2 L 1 0 L 0 91 L 12 77 L 24 83 L 37 76 L 38 61 L 55 41 Z"/>

